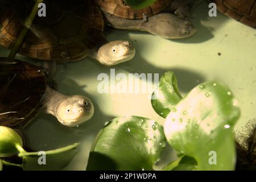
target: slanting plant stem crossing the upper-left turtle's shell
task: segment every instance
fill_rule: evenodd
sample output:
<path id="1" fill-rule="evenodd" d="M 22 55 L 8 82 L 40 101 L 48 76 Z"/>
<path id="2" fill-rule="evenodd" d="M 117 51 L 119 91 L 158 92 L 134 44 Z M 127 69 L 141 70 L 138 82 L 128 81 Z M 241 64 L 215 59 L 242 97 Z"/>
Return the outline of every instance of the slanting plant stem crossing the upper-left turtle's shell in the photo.
<path id="1" fill-rule="evenodd" d="M 26 22 L 24 23 L 24 28 L 20 32 L 19 37 L 14 44 L 14 47 L 11 49 L 8 59 L 14 59 L 16 53 L 18 52 L 20 46 L 22 45 L 24 37 L 27 35 L 27 32 L 30 29 L 31 24 L 33 23 L 33 21 L 35 19 L 36 13 L 38 12 L 38 5 L 39 5 L 39 3 L 42 3 L 42 2 L 43 2 L 43 0 L 36 0 L 36 3 L 30 13 L 30 15 L 28 16 Z"/>

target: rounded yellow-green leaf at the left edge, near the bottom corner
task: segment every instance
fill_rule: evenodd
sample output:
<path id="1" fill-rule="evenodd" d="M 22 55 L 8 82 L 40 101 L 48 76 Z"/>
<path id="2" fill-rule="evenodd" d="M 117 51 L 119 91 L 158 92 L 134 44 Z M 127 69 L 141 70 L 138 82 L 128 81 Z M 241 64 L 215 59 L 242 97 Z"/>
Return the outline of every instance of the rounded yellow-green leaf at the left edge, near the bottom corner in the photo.
<path id="1" fill-rule="evenodd" d="M 0 126 L 0 157 L 5 158 L 23 151 L 22 138 L 15 130 Z"/>

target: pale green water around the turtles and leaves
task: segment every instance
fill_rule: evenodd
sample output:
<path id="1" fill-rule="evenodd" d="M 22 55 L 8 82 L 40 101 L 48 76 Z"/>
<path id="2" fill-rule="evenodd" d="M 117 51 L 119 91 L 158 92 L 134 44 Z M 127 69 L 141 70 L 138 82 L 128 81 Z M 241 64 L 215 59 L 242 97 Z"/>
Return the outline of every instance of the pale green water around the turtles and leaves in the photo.
<path id="1" fill-rule="evenodd" d="M 256 117 L 256 31 L 221 13 L 216 18 L 209 18 L 207 3 L 197 6 L 192 23 L 197 28 L 196 35 L 182 40 L 166 40 L 135 31 L 110 31 L 109 40 L 131 40 L 137 51 L 133 60 L 112 68 L 122 73 L 159 73 L 160 76 L 171 70 L 175 72 L 183 94 L 204 81 L 224 82 L 237 97 L 241 108 L 236 125 L 239 129 Z M 0 56 L 7 56 L 8 52 L 1 49 Z M 23 56 L 16 57 L 27 60 Z M 139 115 L 163 122 L 152 109 L 148 94 L 97 92 L 97 76 L 109 74 L 110 67 L 84 59 L 57 68 L 57 89 L 64 94 L 89 97 L 95 106 L 94 117 L 79 127 L 68 128 L 61 126 L 51 115 L 40 114 L 27 127 L 27 133 L 31 147 L 36 150 L 81 142 L 79 153 L 66 169 L 85 169 L 94 137 L 112 118 Z"/>

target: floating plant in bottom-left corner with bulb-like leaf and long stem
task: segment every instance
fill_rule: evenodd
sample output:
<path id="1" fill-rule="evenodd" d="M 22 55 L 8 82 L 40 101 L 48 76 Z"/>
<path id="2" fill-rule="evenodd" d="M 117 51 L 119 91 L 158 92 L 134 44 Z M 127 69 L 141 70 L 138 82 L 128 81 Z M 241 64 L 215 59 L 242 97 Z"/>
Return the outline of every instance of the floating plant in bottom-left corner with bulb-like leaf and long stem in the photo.
<path id="1" fill-rule="evenodd" d="M 77 154 L 78 143 L 50 151 L 27 152 L 23 149 L 22 137 L 15 130 L 0 126 L 0 170 L 2 164 L 19 166 L 23 170 L 60 170 L 66 167 Z M 22 158 L 22 164 L 10 163 L 6 157 L 18 155 Z M 44 155 L 44 156 L 43 156 Z M 40 156 L 42 164 L 39 164 Z M 44 158 L 44 159 L 43 159 Z"/>

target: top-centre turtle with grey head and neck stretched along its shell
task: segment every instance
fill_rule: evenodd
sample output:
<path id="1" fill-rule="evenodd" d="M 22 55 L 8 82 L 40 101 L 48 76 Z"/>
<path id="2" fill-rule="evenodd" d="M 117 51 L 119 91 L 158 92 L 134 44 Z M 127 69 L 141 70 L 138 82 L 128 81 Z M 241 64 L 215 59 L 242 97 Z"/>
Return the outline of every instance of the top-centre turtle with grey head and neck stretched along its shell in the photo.
<path id="1" fill-rule="evenodd" d="M 95 1 L 114 28 L 147 31 L 167 39 L 186 38 L 196 32 L 188 19 L 187 0 L 157 0 L 142 10 L 132 9 L 123 0 Z"/>

